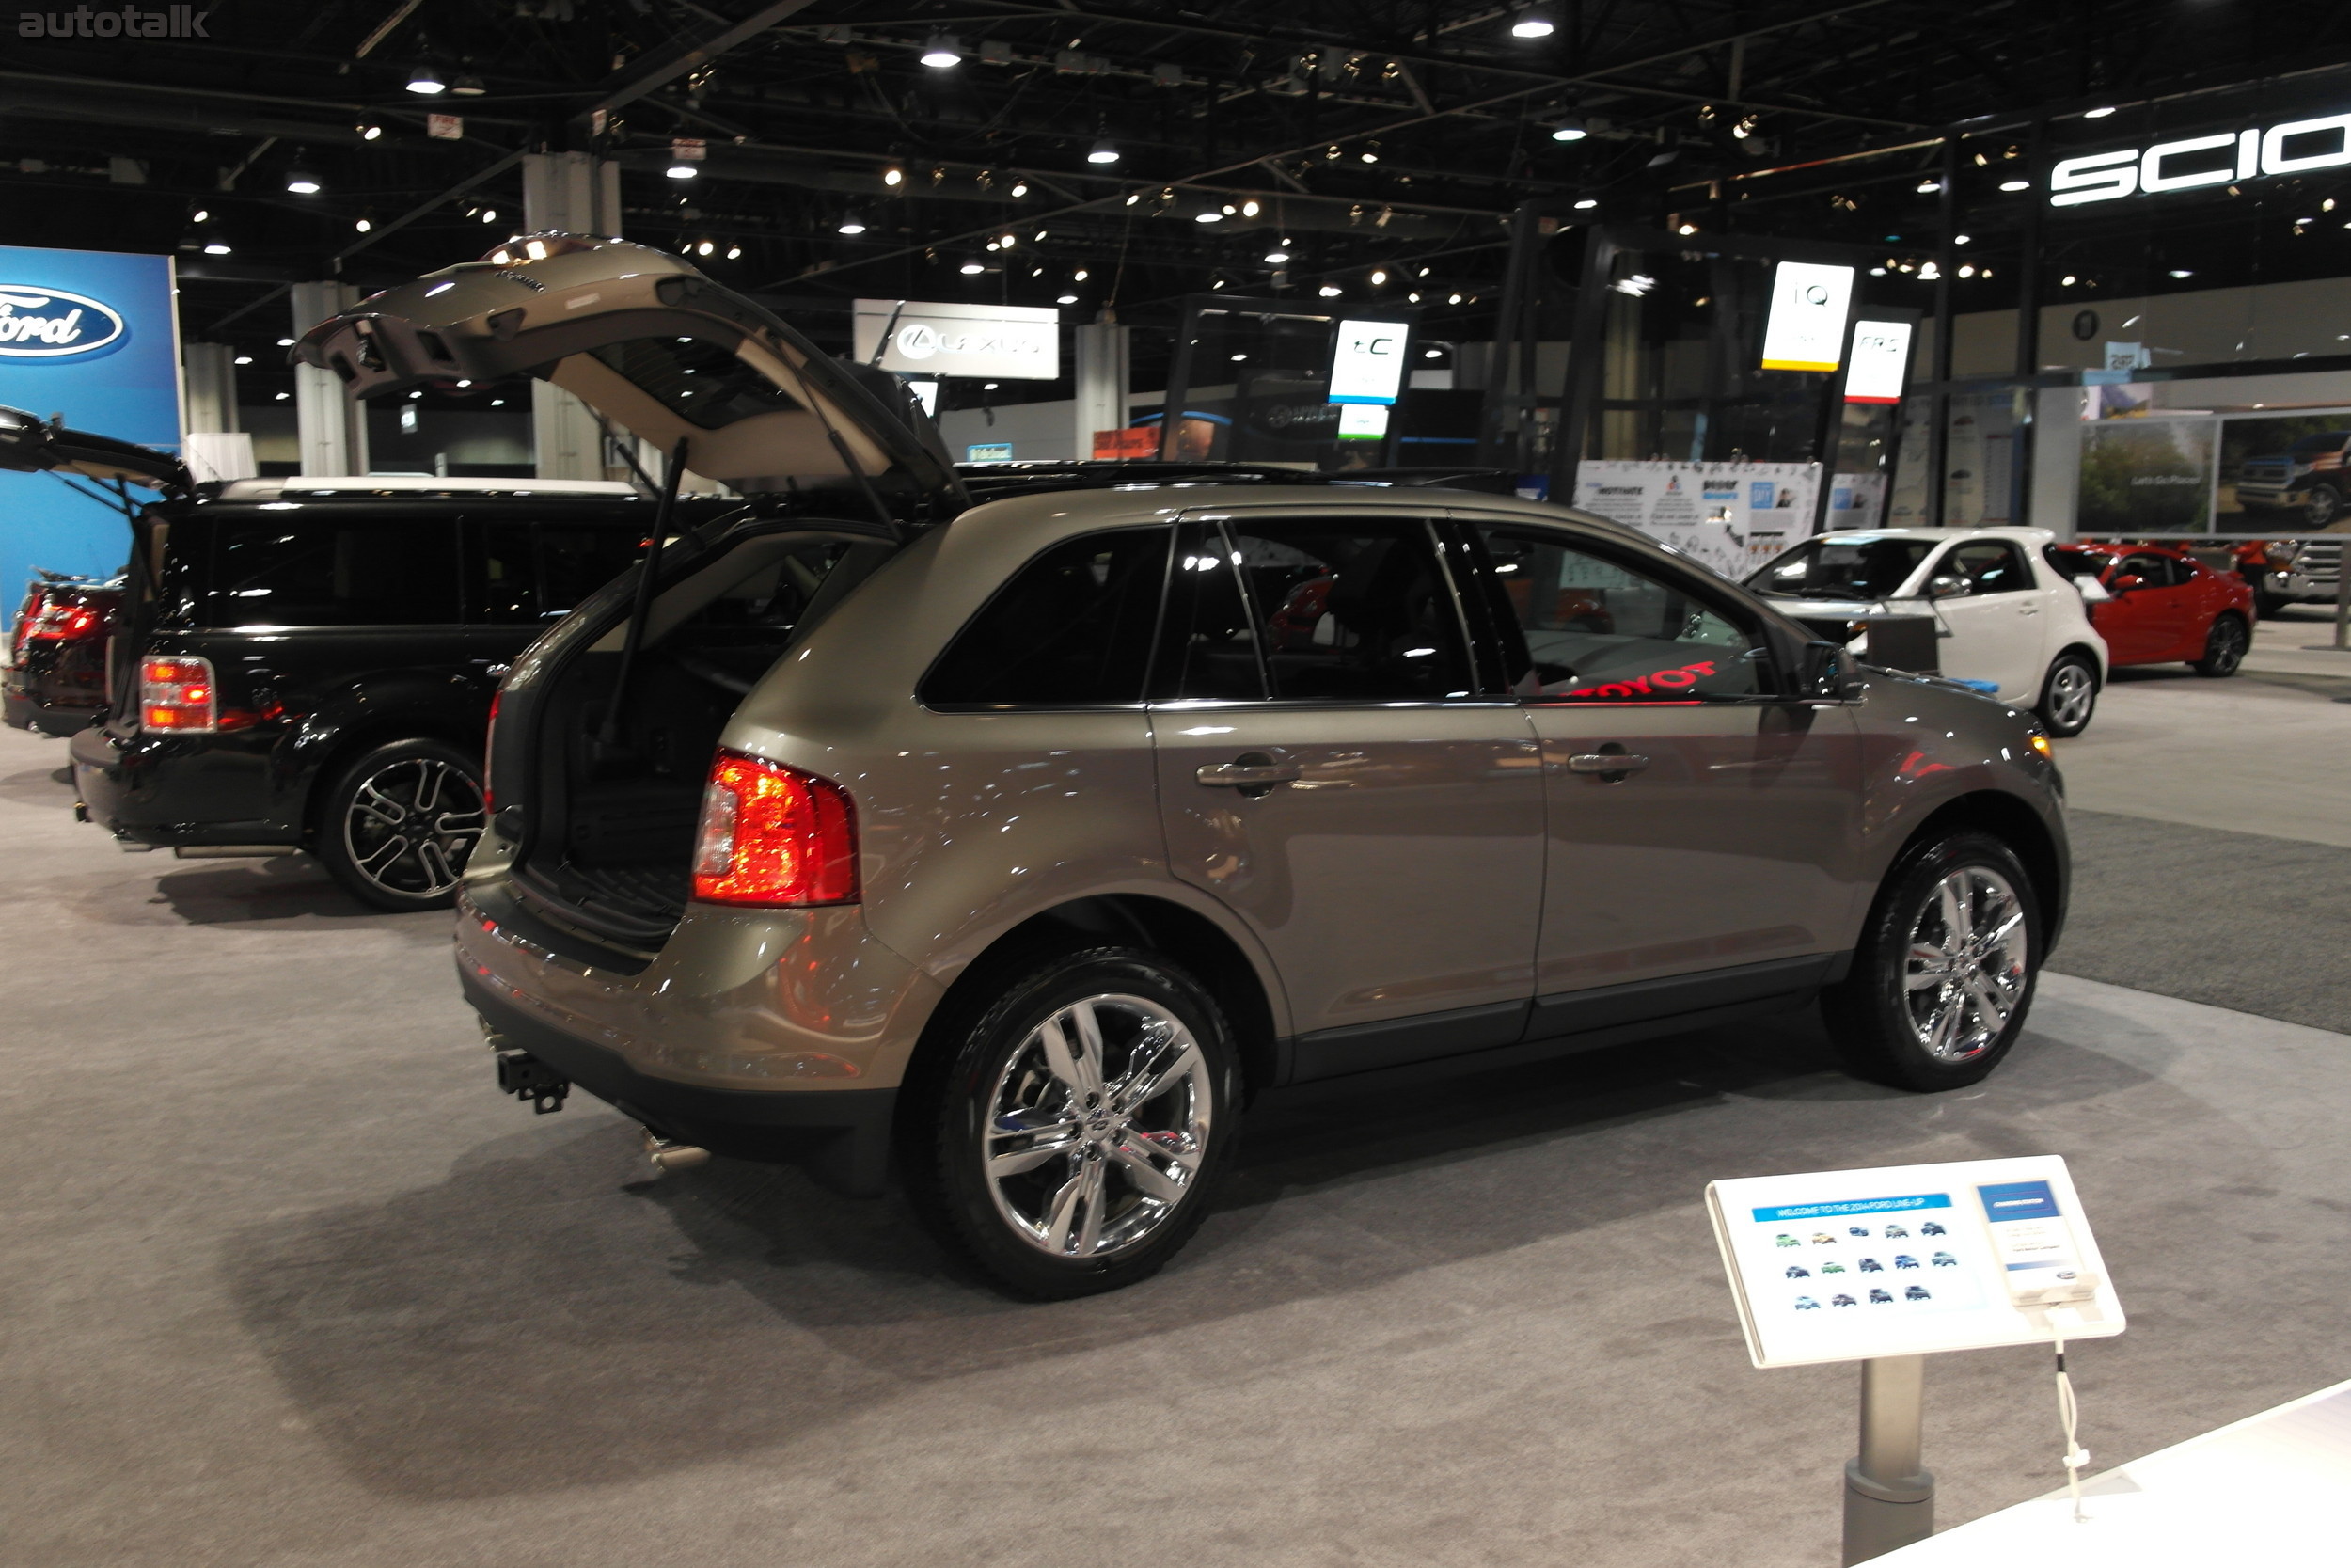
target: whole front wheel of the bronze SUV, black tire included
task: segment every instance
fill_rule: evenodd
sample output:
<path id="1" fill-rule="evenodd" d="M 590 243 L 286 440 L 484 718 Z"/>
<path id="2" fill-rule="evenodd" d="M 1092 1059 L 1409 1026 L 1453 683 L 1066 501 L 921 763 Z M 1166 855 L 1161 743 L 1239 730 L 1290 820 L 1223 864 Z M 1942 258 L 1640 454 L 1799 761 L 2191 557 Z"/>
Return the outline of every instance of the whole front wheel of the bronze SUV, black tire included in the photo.
<path id="1" fill-rule="evenodd" d="M 2010 914 L 2017 919 L 2012 943 L 1951 931 L 1942 891 L 1954 879 L 1972 889 L 1963 905 L 1970 924 L 1991 917 L 1989 929 L 2003 929 Z M 1937 980 L 1935 964 L 1914 954 L 1918 945 L 1935 947 L 1951 978 Z M 1911 985 L 1914 969 L 1933 983 L 1933 997 L 1925 985 Z M 1963 830 L 1914 846 L 1886 875 L 1853 952 L 1853 973 L 1822 994 L 1820 1011 L 1848 1072 L 1933 1093 L 1980 1084 L 2001 1065 L 2024 1030 L 2038 980 L 2034 884 L 2005 844 Z M 1947 1013 L 1956 1023 L 1944 1023 Z"/>

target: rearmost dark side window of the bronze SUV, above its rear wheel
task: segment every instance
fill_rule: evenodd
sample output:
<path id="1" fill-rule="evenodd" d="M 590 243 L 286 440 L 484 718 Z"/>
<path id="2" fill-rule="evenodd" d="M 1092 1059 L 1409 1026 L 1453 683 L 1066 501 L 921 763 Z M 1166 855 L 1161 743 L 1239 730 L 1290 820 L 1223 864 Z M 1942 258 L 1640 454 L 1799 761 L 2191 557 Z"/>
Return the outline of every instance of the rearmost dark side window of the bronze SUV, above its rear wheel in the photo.
<path id="1" fill-rule="evenodd" d="M 922 679 L 929 708 L 1136 703 L 1173 529 L 1063 541 L 980 607 Z"/>

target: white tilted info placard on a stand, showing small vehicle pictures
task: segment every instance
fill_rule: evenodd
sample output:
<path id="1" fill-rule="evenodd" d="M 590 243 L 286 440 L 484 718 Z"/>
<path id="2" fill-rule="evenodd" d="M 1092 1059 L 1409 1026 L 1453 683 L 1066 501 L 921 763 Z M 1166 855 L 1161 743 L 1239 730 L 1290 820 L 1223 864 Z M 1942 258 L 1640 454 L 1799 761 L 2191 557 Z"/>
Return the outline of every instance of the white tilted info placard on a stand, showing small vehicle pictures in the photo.
<path id="1" fill-rule="evenodd" d="M 1756 1366 L 2123 1333 L 2057 1154 L 1709 1182 L 1707 1213 Z"/>

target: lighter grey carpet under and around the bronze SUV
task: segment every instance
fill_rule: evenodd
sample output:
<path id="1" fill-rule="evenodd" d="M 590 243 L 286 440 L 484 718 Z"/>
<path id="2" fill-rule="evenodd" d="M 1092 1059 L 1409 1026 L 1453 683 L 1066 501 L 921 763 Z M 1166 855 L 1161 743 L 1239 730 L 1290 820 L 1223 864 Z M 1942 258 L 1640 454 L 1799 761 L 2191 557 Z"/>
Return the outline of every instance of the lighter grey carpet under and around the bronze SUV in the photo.
<path id="1" fill-rule="evenodd" d="M 2342 1034 L 2055 976 L 1968 1093 L 1796 1016 L 1288 1107 L 1164 1276 L 1027 1307 L 498 1098 L 444 919 L 118 856 L 59 752 L 0 733 L 7 1563 L 1831 1563 L 1855 1373 L 1747 1366 L 1714 1175 L 2067 1154 L 2099 1465 L 2351 1373 Z M 2059 1479 L 2045 1354 L 1928 1399 L 1944 1521 Z"/>

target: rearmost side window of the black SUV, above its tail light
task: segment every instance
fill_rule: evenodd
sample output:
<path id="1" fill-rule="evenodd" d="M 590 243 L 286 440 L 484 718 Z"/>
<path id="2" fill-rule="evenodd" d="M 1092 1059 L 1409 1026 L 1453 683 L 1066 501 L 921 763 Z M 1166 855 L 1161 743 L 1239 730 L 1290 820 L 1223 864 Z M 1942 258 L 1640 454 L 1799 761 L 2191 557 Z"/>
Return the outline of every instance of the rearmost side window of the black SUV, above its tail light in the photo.
<path id="1" fill-rule="evenodd" d="M 207 625 L 454 625 L 456 520 L 301 508 L 214 534 Z"/>

